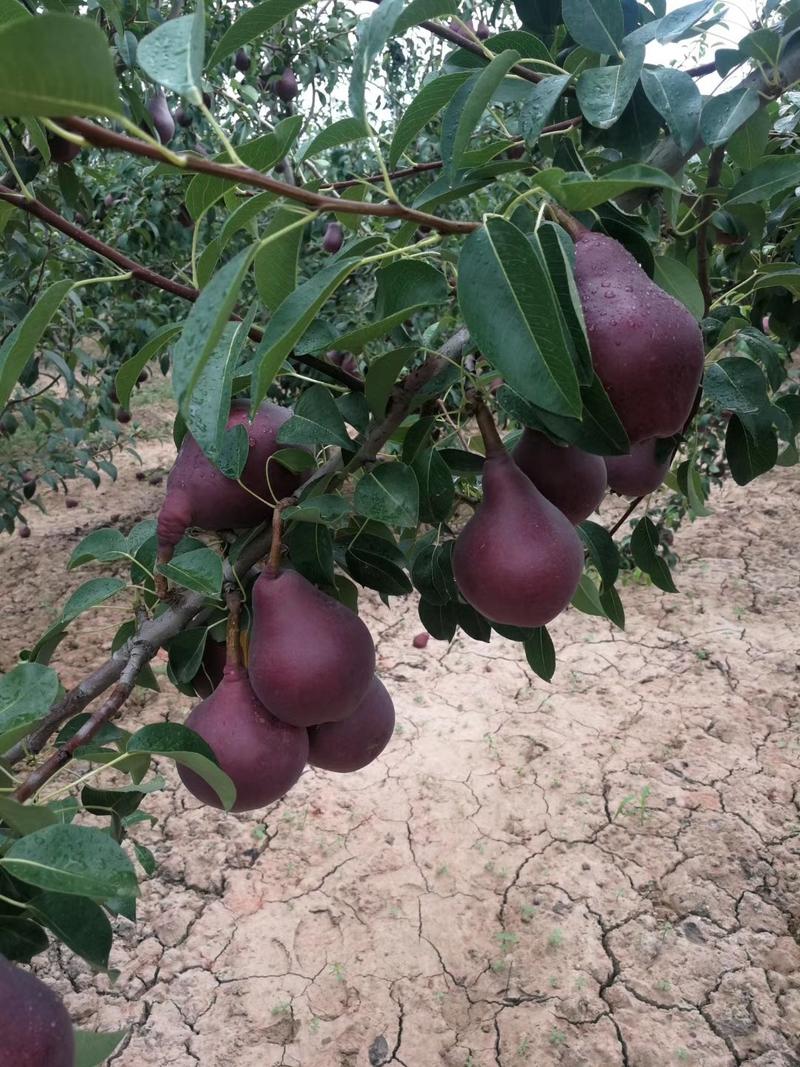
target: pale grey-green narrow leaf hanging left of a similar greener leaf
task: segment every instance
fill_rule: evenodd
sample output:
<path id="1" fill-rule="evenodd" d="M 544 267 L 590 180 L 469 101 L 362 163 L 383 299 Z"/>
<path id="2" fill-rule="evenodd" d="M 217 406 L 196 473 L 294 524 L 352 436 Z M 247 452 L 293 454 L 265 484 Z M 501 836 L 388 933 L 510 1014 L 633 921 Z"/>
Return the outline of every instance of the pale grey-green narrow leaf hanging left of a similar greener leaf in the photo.
<path id="1" fill-rule="evenodd" d="M 186 412 L 195 383 L 213 355 L 239 299 L 257 245 L 243 249 L 214 274 L 183 322 L 173 349 L 173 394 Z"/>

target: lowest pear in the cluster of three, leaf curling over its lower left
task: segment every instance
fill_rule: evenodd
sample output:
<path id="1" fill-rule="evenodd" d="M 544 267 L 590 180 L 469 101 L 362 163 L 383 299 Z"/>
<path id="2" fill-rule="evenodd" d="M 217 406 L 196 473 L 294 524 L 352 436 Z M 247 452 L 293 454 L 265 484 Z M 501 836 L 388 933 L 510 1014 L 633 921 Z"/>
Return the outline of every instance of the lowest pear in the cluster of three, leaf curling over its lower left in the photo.
<path id="1" fill-rule="evenodd" d="M 242 667 L 226 667 L 222 682 L 197 704 L 186 724 L 208 742 L 236 786 L 233 811 L 254 811 L 289 792 L 308 759 L 308 732 L 276 719 L 257 699 Z M 198 800 L 222 808 L 213 789 L 188 767 L 180 780 Z"/>

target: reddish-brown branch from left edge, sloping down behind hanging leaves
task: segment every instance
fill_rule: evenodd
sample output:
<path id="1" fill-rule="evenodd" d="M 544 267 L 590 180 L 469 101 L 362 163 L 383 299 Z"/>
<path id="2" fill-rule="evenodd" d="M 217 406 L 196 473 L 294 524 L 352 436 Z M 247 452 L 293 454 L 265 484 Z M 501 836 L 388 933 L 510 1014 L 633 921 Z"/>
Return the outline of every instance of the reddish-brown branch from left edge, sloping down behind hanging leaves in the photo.
<path id="1" fill-rule="evenodd" d="M 80 226 L 76 226 L 74 222 L 69 222 L 63 216 L 59 214 L 58 211 L 53 211 L 52 208 L 47 207 L 37 200 L 28 200 L 22 196 L 21 193 L 15 192 L 13 189 L 9 189 L 7 186 L 0 185 L 0 201 L 5 201 L 9 204 L 13 204 L 14 207 L 20 209 L 20 211 L 26 211 L 28 214 L 34 216 L 39 219 L 47 226 L 51 226 L 53 229 L 60 230 L 66 237 L 70 237 L 74 241 L 78 241 L 90 252 L 94 252 L 98 256 L 102 256 L 103 259 L 108 259 L 109 262 L 116 264 L 117 267 L 122 267 L 123 270 L 129 271 L 134 277 L 139 278 L 140 282 L 145 282 L 147 285 L 153 285 L 157 289 L 163 289 L 164 292 L 171 292 L 176 297 L 180 297 L 182 300 L 195 301 L 201 294 L 199 289 L 194 289 L 190 285 L 182 285 L 180 282 L 175 282 L 171 277 L 166 277 L 164 274 L 159 274 L 149 267 L 144 267 L 142 264 L 137 262 L 135 259 L 131 259 L 130 256 L 124 255 L 118 252 L 111 244 L 106 244 L 105 241 L 98 240 L 98 238 L 93 237 L 92 234 L 82 229 Z M 235 322 L 240 322 L 241 318 L 238 315 L 231 315 L 230 318 Z M 250 338 L 255 341 L 259 341 L 263 336 L 263 331 L 258 327 L 253 327 L 249 334 Z M 333 364 L 325 363 L 324 360 L 318 360 L 314 355 L 292 355 L 291 359 L 295 363 L 300 363 L 306 367 L 313 367 L 315 370 L 319 370 L 335 382 L 340 382 L 342 385 L 347 385 L 348 388 L 355 392 L 364 391 L 364 382 L 358 378 L 354 378 L 353 375 L 349 375 L 346 370 L 340 367 L 335 367 Z"/>

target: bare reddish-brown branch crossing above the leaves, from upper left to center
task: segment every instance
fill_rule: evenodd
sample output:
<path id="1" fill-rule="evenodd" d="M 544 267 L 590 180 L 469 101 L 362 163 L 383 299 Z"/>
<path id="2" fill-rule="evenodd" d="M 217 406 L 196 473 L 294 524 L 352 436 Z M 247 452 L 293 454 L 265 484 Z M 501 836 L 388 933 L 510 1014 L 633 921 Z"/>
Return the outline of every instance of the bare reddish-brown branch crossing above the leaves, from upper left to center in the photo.
<path id="1" fill-rule="evenodd" d="M 131 156 L 144 156 L 147 159 L 155 159 L 159 163 L 172 162 L 164 150 L 156 145 L 138 141 L 135 138 L 126 137 L 125 133 L 115 133 L 85 118 L 65 118 L 63 125 L 74 133 L 89 141 L 97 148 L 111 148 L 114 152 L 127 152 Z M 286 200 L 295 201 L 316 211 L 337 211 L 346 214 L 363 214 L 383 219 L 405 219 L 407 222 L 416 222 L 420 226 L 430 226 L 439 234 L 471 234 L 474 229 L 480 227 L 479 222 L 459 222 L 450 219 L 439 219 L 438 216 L 428 214 L 426 211 L 416 211 L 414 208 L 405 207 L 403 204 L 367 204 L 362 201 L 339 200 L 336 196 L 324 196 L 322 193 L 311 192 L 310 189 L 303 189 L 300 186 L 290 186 L 286 181 L 277 181 L 266 174 L 254 171 L 250 166 L 233 166 L 229 163 L 215 163 L 211 159 L 204 159 L 202 156 L 180 156 L 180 169 L 188 174 L 210 174 L 214 178 L 222 178 L 224 181 L 233 181 L 243 186 L 254 186 L 256 189 L 266 189 L 284 196 Z"/>

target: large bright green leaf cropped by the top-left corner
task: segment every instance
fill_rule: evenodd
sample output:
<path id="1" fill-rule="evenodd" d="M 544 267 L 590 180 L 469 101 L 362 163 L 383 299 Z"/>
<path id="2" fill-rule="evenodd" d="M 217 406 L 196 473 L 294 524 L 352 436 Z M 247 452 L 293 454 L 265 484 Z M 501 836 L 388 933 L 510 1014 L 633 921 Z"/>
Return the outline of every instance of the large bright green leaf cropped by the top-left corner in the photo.
<path id="1" fill-rule="evenodd" d="M 0 115 L 121 111 L 109 43 L 91 19 L 47 14 L 0 30 Z"/>

